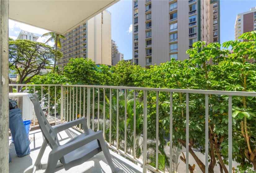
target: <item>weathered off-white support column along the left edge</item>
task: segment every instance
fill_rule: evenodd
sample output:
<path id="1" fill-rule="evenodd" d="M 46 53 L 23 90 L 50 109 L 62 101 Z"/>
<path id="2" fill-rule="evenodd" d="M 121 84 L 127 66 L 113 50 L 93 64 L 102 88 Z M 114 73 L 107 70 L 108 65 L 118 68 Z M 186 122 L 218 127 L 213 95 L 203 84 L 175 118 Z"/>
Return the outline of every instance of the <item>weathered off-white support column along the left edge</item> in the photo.
<path id="1" fill-rule="evenodd" d="M 9 172 L 9 1 L 0 1 L 0 172 Z"/>

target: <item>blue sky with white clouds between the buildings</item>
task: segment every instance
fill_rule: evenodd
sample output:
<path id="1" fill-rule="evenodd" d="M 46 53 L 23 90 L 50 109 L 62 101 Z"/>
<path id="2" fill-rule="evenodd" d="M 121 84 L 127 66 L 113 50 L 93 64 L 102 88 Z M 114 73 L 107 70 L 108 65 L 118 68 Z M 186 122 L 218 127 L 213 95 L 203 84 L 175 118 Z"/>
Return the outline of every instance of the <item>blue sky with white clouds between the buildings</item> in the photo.
<path id="1" fill-rule="evenodd" d="M 235 39 L 236 15 L 249 11 L 256 6 L 256 0 L 221 0 L 220 1 L 220 41 L 221 43 Z M 112 40 L 118 46 L 124 59 L 132 59 L 132 0 L 121 0 L 107 9 L 111 12 Z M 9 37 L 16 39 L 21 30 L 32 32 L 40 36 L 37 41 L 45 42 L 48 38 L 41 38 L 47 30 L 29 26 L 27 24 L 9 20 Z M 51 46 L 53 42 L 49 42 Z"/>

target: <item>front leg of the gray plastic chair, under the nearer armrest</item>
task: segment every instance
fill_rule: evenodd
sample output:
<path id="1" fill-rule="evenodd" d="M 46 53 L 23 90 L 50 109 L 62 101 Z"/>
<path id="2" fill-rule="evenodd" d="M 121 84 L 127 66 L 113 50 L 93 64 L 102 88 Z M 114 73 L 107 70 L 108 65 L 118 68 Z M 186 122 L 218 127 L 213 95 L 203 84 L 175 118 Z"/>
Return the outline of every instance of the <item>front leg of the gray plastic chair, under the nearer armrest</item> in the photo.
<path id="1" fill-rule="evenodd" d="M 104 156 L 107 159 L 107 162 L 108 162 L 108 164 L 109 164 L 109 166 L 111 168 L 112 173 L 122 173 L 123 172 L 122 169 L 120 169 L 118 167 L 117 168 L 115 167 L 115 165 L 114 165 L 114 163 L 112 161 L 112 158 L 110 156 L 109 149 L 106 146 L 106 143 L 105 143 L 105 140 L 104 140 L 103 136 L 100 137 L 99 141 L 100 141 L 100 144 L 101 144 L 101 150 L 102 150 Z"/>

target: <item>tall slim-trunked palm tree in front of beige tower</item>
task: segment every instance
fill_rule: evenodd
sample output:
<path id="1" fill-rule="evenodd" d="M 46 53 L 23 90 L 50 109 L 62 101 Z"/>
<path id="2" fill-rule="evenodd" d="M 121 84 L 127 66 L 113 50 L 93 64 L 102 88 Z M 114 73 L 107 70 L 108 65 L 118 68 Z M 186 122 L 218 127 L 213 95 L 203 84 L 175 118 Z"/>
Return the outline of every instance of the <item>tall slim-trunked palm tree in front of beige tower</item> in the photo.
<path id="1" fill-rule="evenodd" d="M 53 73 L 55 73 L 55 66 L 56 66 L 56 59 L 57 59 L 57 46 L 59 48 L 61 48 L 61 40 L 60 40 L 60 38 L 66 39 L 66 37 L 61 35 L 61 34 L 57 34 L 55 32 L 45 33 L 41 37 L 46 37 L 46 36 L 51 36 L 51 37 L 45 42 L 45 44 L 48 43 L 49 41 L 54 41 L 55 59 L 54 59 Z"/>

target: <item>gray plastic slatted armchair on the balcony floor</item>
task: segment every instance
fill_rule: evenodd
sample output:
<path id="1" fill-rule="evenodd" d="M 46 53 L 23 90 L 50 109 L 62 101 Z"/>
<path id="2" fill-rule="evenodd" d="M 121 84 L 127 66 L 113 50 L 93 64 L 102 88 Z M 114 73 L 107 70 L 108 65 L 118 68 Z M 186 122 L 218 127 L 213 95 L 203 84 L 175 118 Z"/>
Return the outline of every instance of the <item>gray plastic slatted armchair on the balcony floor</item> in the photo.
<path id="1" fill-rule="evenodd" d="M 43 133 L 44 141 L 36 162 L 24 172 L 35 172 L 39 169 L 46 169 L 45 172 L 47 173 L 54 172 L 56 167 L 62 165 L 65 170 L 68 170 L 71 167 L 86 162 L 101 151 L 103 151 L 112 172 L 123 172 L 123 170 L 114 166 L 102 131 L 94 132 L 92 129 L 88 129 L 85 118 L 79 118 L 78 120 L 52 127 L 44 116 L 37 96 L 29 94 L 29 98 L 34 104 L 35 114 Z M 84 133 L 72 138 L 64 145 L 60 145 L 57 134 L 78 124 L 83 124 Z M 47 144 L 51 147 L 52 151 L 49 154 L 48 162 L 43 164 L 41 163 L 41 159 Z"/>

